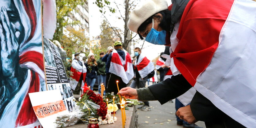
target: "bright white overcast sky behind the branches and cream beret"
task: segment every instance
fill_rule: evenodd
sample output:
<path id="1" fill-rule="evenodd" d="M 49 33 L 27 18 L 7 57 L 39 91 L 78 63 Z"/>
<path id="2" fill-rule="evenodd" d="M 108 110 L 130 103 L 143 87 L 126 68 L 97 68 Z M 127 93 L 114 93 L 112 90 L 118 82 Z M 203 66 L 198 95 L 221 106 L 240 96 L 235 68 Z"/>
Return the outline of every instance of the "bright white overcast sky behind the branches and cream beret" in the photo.
<path id="1" fill-rule="evenodd" d="M 116 8 L 115 4 L 113 3 L 114 0 L 109 0 L 111 2 L 111 6 Z M 142 2 L 143 0 L 141 0 Z M 171 0 L 168 0 L 171 1 Z M 102 14 L 99 12 L 99 8 L 93 4 L 95 0 L 89 0 L 89 27 L 90 27 L 90 39 L 94 36 L 98 36 L 101 33 L 100 25 L 101 21 L 103 21 Z M 116 0 L 116 2 L 123 2 L 123 0 Z M 168 5 L 170 5 L 171 2 L 168 2 Z M 123 4 L 124 5 L 124 4 Z M 108 11 L 105 13 L 105 16 L 108 18 L 108 21 L 110 24 L 114 27 L 118 27 L 120 29 L 124 29 L 124 21 L 119 20 L 117 17 L 120 16 L 119 13 L 109 13 Z M 136 36 L 135 38 L 139 39 L 139 36 Z M 139 41 L 138 44 L 135 45 L 135 47 L 142 46 L 143 41 Z M 163 52 L 165 49 L 165 46 L 162 45 L 154 45 L 151 43 L 148 43 L 145 41 L 142 49 L 142 53 L 147 56 L 149 60 L 152 60 L 160 55 L 161 52 Z M 131 55 L 133 56 L 133 55 Z"/>

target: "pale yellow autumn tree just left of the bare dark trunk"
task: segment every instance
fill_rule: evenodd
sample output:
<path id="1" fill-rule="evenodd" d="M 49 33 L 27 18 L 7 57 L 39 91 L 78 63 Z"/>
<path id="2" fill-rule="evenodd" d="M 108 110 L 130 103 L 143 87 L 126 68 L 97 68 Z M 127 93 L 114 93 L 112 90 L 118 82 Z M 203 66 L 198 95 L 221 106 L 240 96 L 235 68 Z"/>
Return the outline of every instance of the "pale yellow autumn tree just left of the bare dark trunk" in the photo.
<path id="1" fill-rule="evenodd" d="M 101 29 L 101 49 L 106 50 L 107 47 L 113 45 L 113 30 L 110 28 L 106 20 L 103 20 L 100 26 Z"/>

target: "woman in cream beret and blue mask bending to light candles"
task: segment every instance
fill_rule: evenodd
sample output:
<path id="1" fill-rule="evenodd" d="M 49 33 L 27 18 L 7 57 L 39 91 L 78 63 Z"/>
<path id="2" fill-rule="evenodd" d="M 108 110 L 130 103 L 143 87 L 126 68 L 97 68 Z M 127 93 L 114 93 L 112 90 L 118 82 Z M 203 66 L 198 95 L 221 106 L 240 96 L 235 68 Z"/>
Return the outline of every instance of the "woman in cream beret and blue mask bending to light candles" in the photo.
<path id="1" fill-rule="evenodd" d="M 193 86 L 197 92 L 191 104 L 176 113 L 181 119 L 204 121 L 206 127 L 255 127 L 256 2 L 172 3 L 168 7 L 164 0 L 147 0 L 136 6 L 128 27 L 150 43 L 171 45 L 173 76 L 148 88 L 123 88 L 119 94 L 164 104 Z"/>

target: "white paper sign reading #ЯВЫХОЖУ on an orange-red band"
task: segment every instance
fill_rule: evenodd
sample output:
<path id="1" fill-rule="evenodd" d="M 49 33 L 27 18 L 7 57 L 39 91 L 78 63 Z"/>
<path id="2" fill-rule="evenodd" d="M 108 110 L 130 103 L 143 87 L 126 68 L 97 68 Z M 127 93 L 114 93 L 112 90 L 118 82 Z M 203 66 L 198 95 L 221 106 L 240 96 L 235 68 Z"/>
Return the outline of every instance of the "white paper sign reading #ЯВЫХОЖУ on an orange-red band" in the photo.
<path id="1" fill-rule="evenodd" d="M 41 125 L 54 128 L 58 115 L 68 114 L 59 90 L 29 93 L 33 110 Z"/>

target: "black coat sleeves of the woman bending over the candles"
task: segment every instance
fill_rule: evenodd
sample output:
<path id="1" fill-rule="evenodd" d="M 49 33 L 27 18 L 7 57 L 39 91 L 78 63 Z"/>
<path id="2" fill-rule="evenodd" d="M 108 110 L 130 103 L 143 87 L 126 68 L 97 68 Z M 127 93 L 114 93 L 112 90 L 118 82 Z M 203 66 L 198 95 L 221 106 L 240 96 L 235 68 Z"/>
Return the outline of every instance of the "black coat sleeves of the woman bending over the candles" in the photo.
<path id="1" fill-rule="evenodd" d="M 169 100 L 181 96 L 191 87 L 189 82 L 180 74 L 151 85 L 148 88 L 137 89 L 138 100 L 158 100 L 160 104 L 165 104 Z M 205 124 L 220 123 L 222 125 L 224 123 L 228 128 L 244 127 L 227 116 L 199 92 L 195 93 L 190 103 L 190 108 L 196 120 L 204 121 Z"/>

